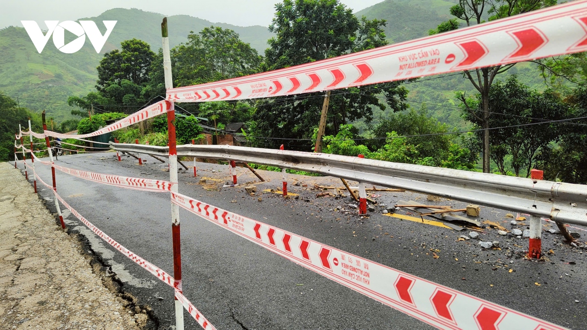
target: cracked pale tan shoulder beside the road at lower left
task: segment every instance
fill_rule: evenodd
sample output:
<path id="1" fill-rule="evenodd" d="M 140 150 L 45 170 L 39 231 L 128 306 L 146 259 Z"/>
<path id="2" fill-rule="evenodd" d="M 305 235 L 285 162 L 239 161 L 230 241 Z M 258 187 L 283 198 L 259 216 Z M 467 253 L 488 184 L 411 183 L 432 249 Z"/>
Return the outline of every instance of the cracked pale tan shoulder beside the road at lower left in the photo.
<path id="1" fill-rule="evenodd" d="M 109 279 L 62 231 L 19 170 L 0 163 L 0 324 L 4 329 L 140 329 Z"/>

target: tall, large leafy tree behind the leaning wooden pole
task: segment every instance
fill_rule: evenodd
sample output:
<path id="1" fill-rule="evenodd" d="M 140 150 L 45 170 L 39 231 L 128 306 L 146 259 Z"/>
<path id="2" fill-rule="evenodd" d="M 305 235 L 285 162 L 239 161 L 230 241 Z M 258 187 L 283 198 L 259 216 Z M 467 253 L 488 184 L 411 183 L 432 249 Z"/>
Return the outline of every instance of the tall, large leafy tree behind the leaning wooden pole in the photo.
<path id="1" fill-rule="evenodd" d="M 386 45 L 383 20 L 357 19 L 338 0 L 285 0 L 275 5 L 269 26 L 276 33 L 265 50 L 266 70 L 286 68 Z M 325 134 L 336 134 L 341 124 L 373 117 L 372 106 L 406 109 L 407 90 L 401 82 L 333 90 L 328 103 L 324 93 L 308 93 L 258 100 L 254 120 L 256 135 L 310 139 L 328 105 Z M 267 140 L 264 145 L 286 144 L 309 150 L 292 140 Z"/>

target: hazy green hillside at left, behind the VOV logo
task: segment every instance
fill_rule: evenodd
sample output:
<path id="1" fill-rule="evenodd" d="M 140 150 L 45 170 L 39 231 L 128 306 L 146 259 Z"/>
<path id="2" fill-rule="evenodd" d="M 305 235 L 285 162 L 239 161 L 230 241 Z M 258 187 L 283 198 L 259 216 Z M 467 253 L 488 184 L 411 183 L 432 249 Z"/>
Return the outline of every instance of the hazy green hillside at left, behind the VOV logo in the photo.
<path id="1" fill-rule="evenodd" d="M 102 27 L 102 33 L 104 29 L 101 21 L 118 21 L 102 53 L 119 48 L 121 41 L 132 38 L 149 42 L 151 49 L 156 52 L 161 47 L 160 26 L 163 17 L 161 14 L 139 9 L 111 9 L 97 17 L 85 19 L 96 21 L 98 27 Z M 260 53 L 264 52 L 266 41 L 272 36 L 263 26 L 242 27 L 212 23 L 187 15 L 170 16 L 168 22 L 172 47 L 187 41 L 190 31 L 198 32 L 210 25 L 233 29 L 241 35 L 243 41 L 251 43 Z M 66 43 L 71 40 L 73 35 L 69 35 L 69 38 L 66 35 Z M 62 122 L 72 117 L 72 108 L 55 103 L 67 103 L 68 96 L 82 96 L 92 91 L 100 59 L 102 54 L 97 54 L 87 40 L 85 46 L 73 54 L 59 52 L 49 40 L 39 54 L 24 28 L 10 26 L 0 29 L 0 91 L 9 96 L 18 96 L 21 106 L 35 112 L 46 110 L 49 117 Z M 42 100 L 46 103 L 24 99 Z"/>

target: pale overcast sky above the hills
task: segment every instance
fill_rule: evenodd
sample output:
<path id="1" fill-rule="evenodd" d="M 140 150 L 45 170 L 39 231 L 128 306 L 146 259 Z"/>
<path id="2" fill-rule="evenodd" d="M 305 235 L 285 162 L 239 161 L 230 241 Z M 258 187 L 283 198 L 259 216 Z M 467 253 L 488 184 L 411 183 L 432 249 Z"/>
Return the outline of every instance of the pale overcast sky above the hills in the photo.
<path id="1" fill-rule="evenodd" d="M 355 12 L 383 0 L 342 0 Z M 268 26 L 279 0 L 2 0 L 0 28 L 21 21 L 68 21 L 92 17 L 112 8 L 139 8 L 164 15 L 190 15 L 239 26 Z M 43 25 L 44 26 L 44 25 Z"/>

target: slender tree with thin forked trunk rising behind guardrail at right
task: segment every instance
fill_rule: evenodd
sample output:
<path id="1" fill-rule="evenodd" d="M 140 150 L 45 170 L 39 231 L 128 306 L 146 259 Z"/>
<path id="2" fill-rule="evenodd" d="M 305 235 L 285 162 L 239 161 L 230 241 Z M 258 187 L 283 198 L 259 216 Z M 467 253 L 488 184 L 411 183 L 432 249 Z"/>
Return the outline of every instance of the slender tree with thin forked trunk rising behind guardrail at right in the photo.
<path id="1" fill-rule="evenodd" d="M 481 24 L 484 18 L 488 16 L 489 21 L 505 18 L 513 15 L 523 14 L 536 9 L 552 6 L 556 0 L 459 0 L 458 5 L 450 8 L 450 14 L 465 22 L 467 26 L 471 24 Z M 457 29 L 455 22 L 444 22 L 438 25 L 436 32 L 446 32 Z M 434 32 L 434 31 L 431 31 Z M 471 116 L 480 123 L 484 129 L 482 140 L 483 146 L 483 171 L 490 172 L 490 117 L 491 109 L 489 107 L 489 91 L 494 82 L 495 76 L 504 73 L 512 68 L 515 63 L 508 65 L 498 65 L 491 68 L 465 70 L 465 77 L 470 80 L 475 89 L 480 93 L 481 112 L 477 109 L 468 107 L 466 96 L 461 93 L 459 99 L 463 102 L 465 109 L 470 112 Z"/>

